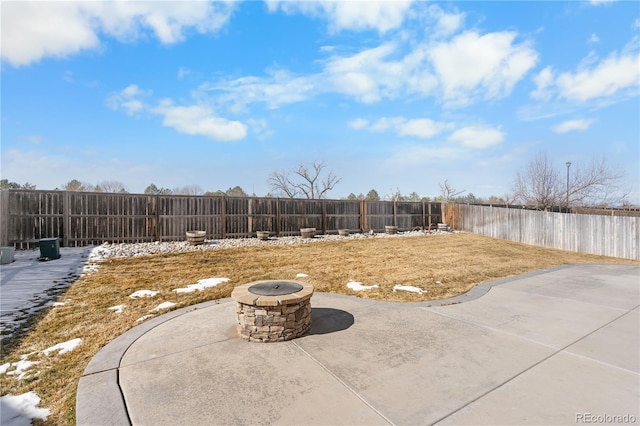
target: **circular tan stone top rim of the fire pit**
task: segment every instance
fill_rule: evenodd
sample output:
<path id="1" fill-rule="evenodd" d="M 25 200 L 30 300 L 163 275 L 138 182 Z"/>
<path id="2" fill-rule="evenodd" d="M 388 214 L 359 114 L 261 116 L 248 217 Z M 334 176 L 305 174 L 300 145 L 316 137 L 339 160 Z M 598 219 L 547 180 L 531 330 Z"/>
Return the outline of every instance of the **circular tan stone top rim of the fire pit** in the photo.
<path id="1" fill-rule="evenodd" d="M 276 287 L 277 286 L 277 287 Z M 255 281 L 231 292 L 236 302 L 253 306 L 293 305 L 311 299 L 313 286 L 296 281 Z"/>

